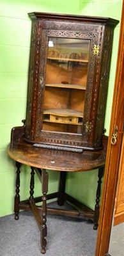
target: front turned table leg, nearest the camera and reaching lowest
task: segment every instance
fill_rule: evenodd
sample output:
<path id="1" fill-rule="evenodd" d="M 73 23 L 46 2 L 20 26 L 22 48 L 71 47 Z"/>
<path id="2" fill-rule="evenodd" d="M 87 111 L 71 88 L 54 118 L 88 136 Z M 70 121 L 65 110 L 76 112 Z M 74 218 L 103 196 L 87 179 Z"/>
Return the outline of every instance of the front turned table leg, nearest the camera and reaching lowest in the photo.
<path id="1" fill-rule="evenodd" d="M 47 192 L 48 192 L 48 173 L 46 170 L 42 170 L 42 227 L 41 227 L 41 246 L 42 253 L 45 253 L 45 246 L 47 245 L 47 241 L 45 237 L 47 236 Z"/>

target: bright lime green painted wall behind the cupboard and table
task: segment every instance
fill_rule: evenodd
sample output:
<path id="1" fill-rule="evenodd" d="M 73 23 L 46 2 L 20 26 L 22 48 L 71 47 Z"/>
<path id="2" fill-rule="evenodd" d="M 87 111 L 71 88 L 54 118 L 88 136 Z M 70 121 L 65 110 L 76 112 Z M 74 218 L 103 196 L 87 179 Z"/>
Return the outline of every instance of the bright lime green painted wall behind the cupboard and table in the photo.
<path id="1" fill-rule="evenodd" d="M 13 212 L 15 195 L 15 163 L 6 154 L 6 146 L 10 142 L 10 131 L 14 126 L 22 125 L 26 117 L 27 72 L 29 63 L 29 45 L 31 35 L 31 20 L 28 12 L 72 13 L 121 18 L 122 0 L 0 0 L 0 216 Z M 111 116 L 112 92 L 116 70 L 120 24 L 114 31 L 112 49 L 111 74 L 109 79 L 109 94 L 105 115 L 105 128 L 109 134 Z M 22 166 L 20 174 L 20 197 L 29 196 L 29 173 Z M 57 172 L 49 172 L 49 191 L 58 188 Z M 89 184 L 89 185 L 88 185 Z M 94 207 L 95 189 L 97 186 L 97 170 L 85 173 L 69 173 L 66 191 L 82 202 Z M 35 196 L 41 195 L 41 186 L 36 179 Z"/>

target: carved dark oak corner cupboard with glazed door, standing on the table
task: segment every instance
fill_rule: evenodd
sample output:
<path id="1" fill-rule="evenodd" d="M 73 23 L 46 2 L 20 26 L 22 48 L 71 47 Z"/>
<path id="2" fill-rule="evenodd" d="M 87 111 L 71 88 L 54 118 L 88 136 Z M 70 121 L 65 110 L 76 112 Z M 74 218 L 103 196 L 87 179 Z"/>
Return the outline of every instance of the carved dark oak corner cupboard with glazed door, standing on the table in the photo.
<path id="1" fill-rule="evenodd" d="M 25 140 L 36 147 L 77 152 L 100 149 L 116 21 L 29 16 L 33 22 Z"/>

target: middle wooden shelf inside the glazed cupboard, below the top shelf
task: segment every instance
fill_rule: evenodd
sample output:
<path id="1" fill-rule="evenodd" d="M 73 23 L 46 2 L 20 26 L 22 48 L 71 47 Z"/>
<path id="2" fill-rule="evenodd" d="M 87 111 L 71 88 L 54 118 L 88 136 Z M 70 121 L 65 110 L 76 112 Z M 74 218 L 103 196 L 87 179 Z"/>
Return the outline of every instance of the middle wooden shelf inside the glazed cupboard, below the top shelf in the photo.
<path id="1" fill-rule="evenodd" d="M 56 88 L 70 88 L 77 90 L 86 90 L 86 86 L 78 85 L 78 84 L 45 84 L 48 87 L 56 87 Z"/>

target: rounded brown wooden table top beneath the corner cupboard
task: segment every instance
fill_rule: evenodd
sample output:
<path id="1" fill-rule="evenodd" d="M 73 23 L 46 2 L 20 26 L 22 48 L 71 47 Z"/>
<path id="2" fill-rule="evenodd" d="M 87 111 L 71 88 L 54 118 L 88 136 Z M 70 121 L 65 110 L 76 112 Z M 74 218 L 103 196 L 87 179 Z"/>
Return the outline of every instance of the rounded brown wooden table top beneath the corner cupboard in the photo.
<path id="1" fill-rule="evenodd" d="M 25 141 L 16 148 L 8 145 L 7 153 L 19 163 L 36 168 L 85 172 L 105 165 L 105 148 L 97 151 L 84 150 L 82 153 L 65 152 L 61 150 L 36 148 Z"/>

